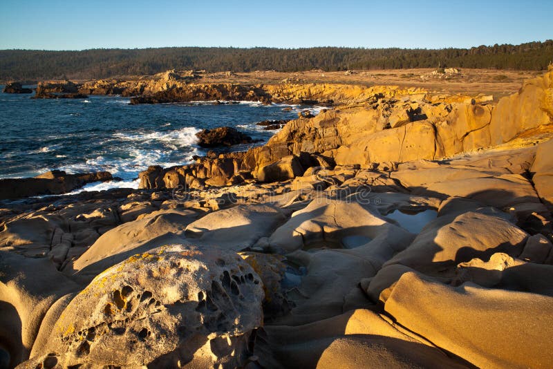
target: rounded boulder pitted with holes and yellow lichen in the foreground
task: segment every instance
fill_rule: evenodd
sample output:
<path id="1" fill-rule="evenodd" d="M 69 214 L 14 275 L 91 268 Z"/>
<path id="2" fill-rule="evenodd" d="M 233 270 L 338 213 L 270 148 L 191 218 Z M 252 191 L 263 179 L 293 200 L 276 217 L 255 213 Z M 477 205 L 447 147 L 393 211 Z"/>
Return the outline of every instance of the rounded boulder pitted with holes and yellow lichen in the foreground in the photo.
<path id="1" fill-rule="evenodd" d="M 261 279 L 238 254 L 169 245 L 99 274 L 22 364 L 235 368 L 263 321 Z"/>

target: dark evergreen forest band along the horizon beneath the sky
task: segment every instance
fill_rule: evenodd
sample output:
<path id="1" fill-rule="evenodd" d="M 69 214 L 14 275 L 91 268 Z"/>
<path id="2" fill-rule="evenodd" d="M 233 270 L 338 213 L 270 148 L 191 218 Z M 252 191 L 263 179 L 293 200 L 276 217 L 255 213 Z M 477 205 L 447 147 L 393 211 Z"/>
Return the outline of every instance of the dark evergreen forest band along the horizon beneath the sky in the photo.
<path id="1" fill-rule="evenodd" d="M 497 68 L 543 70 L 553 60 L 553 40 L 474 48 L 146 48 L 82 51 L 0 50 L 0 80 L 99 79 L 151 75 L 167 69 L 311 70 L 397 68 Z"/>

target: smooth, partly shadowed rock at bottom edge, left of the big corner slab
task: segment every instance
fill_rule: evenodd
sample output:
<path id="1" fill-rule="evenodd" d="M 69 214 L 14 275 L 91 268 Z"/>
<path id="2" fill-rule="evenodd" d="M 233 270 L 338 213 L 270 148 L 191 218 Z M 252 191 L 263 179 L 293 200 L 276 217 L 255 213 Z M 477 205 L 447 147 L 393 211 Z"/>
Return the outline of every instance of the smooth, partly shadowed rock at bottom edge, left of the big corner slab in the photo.
<path id="1" fill-rule="evenodd" d="M 270 368 L 462 367 L 370 310 L 296 327 L 264 328 L 256 339 L 255 354 L 261 365 Z"/>

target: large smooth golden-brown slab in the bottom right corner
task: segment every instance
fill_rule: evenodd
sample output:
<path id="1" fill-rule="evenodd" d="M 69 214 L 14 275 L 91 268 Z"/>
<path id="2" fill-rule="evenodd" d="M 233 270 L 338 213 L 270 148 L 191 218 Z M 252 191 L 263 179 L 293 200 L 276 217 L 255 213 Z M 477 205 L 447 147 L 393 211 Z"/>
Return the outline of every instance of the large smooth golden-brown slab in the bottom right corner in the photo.
<path id="1" fill-rule="evenodd" d="M 411 272 L 384 308 L 397 323 L 476 366 L 546 368 L 553 359 L 551 299 L 469 283 L 449 287 Z"/>

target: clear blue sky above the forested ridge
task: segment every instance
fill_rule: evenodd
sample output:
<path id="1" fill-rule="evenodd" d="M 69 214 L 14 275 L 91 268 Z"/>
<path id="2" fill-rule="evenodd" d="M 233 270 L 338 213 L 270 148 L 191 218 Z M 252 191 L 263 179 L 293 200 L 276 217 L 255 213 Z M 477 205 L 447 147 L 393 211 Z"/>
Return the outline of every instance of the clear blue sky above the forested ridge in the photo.
<path id="1" fill-rule="evenodd" d="M 553 0 L 0 0 L 0 49 L 443 48 L 553 39 Z"/>

